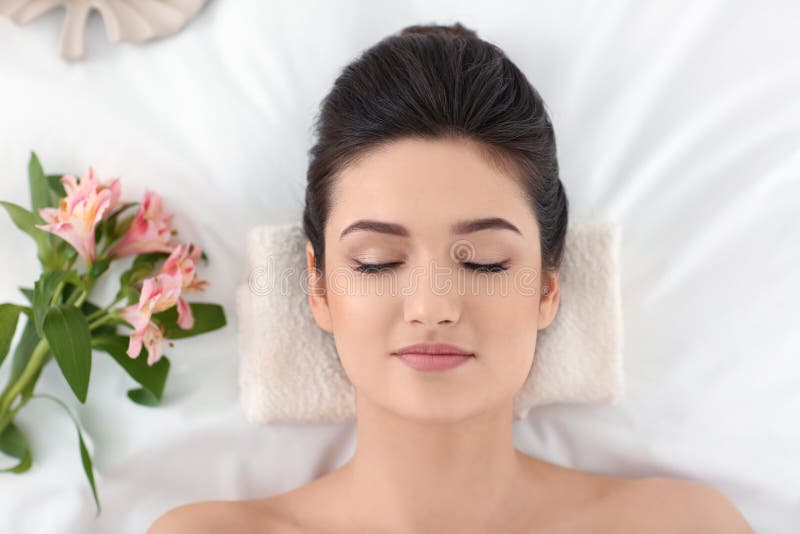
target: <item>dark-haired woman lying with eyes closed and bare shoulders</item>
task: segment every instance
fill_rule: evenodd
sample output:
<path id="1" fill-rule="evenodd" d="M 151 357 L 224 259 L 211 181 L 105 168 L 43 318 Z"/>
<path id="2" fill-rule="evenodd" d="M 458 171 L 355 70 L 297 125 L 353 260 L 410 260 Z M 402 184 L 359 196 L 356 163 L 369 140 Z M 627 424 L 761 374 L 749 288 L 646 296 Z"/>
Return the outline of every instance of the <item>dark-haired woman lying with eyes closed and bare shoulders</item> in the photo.
<path id="1" fill-rule="evenodd" d="M 713 488 L 514 447 L 568 201 L 544 103 L 500 49 L 460 24 L 408 27 L 344 69 L 317 132 L 308 300 L 355 387 L 356 452 L 288 493 L 182 506 L 151 534 L 752 532 Z"/>

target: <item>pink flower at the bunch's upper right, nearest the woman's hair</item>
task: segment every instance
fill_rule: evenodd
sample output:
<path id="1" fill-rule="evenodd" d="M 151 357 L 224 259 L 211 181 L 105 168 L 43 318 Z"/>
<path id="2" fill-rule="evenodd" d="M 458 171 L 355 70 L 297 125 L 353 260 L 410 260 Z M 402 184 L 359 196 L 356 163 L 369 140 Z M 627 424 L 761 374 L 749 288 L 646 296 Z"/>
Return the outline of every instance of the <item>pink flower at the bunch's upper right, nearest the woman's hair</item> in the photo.
<path id="1" fill-rule="evenodd" d="M 111 247 L 109 255 L 115 257 L 145 254 L 148 252 L 171 252 L 170 243 L 172 214 L 164 211 L 158 193 L 146 190 L 144 200 L 125 235 Z"/>

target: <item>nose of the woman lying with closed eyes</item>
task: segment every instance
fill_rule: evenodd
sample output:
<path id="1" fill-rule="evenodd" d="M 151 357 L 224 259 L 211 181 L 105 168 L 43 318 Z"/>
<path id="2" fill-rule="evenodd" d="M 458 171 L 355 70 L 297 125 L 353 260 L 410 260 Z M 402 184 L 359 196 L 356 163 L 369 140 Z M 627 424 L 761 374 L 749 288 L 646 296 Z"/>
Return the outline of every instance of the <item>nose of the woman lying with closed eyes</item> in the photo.
<path id="1" fill-rule="evenodd" d="M 416 266 L 405 289 L 403 313 L 408 322 L 429 326 L 455 323 L 461 316 L 461 299 L 452 269 Z"/>

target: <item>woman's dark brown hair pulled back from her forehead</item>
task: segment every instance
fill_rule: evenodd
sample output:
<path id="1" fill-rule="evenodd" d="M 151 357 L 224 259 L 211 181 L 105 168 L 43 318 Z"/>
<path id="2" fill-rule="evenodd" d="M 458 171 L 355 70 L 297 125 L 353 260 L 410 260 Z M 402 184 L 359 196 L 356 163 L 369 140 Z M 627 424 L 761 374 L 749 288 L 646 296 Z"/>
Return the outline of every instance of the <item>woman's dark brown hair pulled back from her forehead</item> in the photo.
<path id="1" fill-rule="evenodd" d="M 462 137 L 521 185 L 539 225 L 542 268 L 561 266 L 569 203 L 539 93 L 497 46 L 459 23 L 414 25 L 347 65 L 320 104 L 309 150 L 303 230 L 325 270 L 335 179 L 401 138 Z"/>

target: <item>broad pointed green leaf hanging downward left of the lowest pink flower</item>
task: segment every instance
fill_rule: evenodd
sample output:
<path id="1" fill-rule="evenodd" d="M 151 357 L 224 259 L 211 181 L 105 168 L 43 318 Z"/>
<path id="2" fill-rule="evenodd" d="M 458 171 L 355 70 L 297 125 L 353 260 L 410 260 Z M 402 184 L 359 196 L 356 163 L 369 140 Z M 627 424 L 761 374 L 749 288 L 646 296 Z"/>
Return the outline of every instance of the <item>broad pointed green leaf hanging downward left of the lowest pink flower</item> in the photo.
<path id="1" fill-rule="evenodd" d="M 92 344 L 89 323 L 74 306 L 50 308 L 42 331 L 56 362 L 81 403 L 86 402 L 92 370 Z"/>

